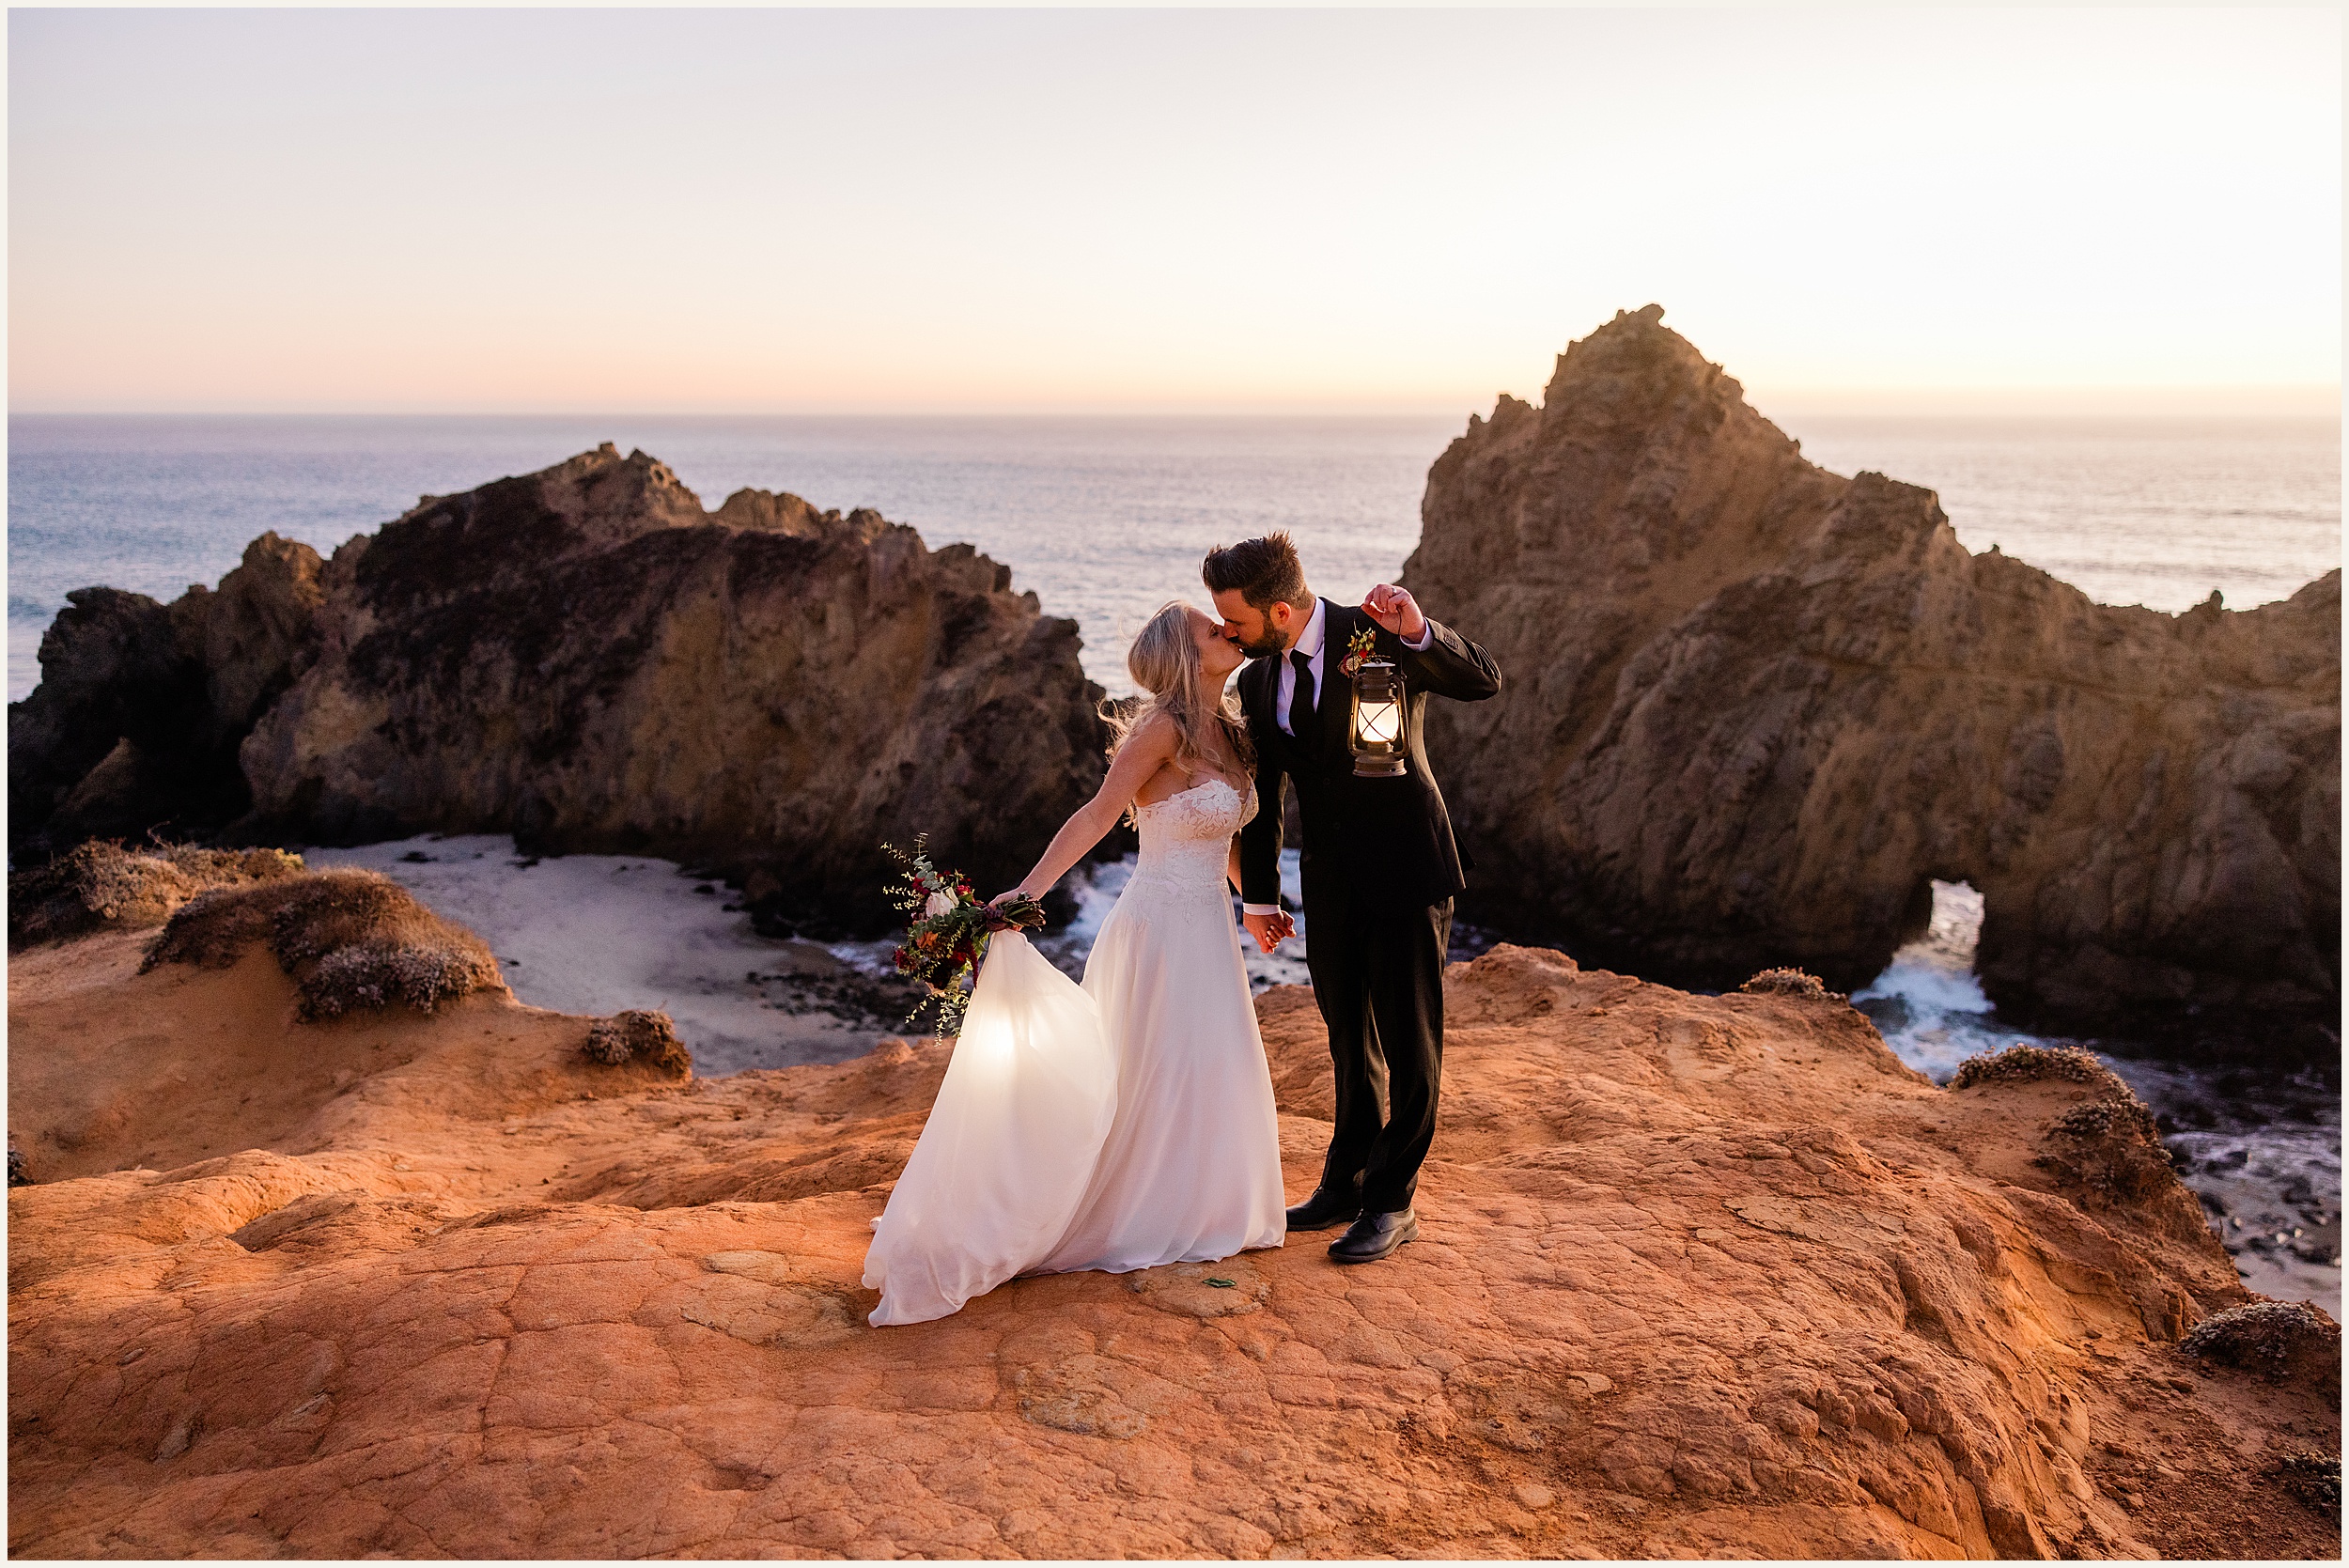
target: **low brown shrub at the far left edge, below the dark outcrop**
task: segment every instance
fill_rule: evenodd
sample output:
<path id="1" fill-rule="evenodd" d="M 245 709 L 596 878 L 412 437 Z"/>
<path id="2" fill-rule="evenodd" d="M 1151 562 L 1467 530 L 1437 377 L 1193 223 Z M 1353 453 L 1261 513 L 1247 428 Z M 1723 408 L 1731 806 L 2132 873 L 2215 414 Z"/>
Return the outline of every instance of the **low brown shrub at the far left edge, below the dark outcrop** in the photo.
<path id="1" fill-rule="evenodd" d="M 139 850 L 92 838 L 47 866 L 7 880 L 7 946 L 66 941 L 96 930 L 157 925 L 211 887 L 251 887 L 301 876 L 284 850 L 202 850 L 157 843 Z"/>

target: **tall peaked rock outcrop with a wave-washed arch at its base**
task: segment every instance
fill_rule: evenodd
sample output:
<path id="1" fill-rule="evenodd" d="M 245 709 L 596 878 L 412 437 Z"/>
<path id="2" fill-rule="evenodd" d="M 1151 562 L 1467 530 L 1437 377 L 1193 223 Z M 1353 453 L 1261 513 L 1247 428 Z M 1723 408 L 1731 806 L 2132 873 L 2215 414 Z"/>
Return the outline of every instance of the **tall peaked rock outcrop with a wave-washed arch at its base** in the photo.
<path id="1" fill-rule="evenodd" d="M 2340 995 L 2340 573 L 2091 603 L 1842 479 L 1618 315 L 1428 474 L 1405 582 L 1510 671 L 1431 749 L 1487 918 L 1616 967 L 1835 986 L 1985 899 L 1992 1000 L 2138 1023 Z"/>

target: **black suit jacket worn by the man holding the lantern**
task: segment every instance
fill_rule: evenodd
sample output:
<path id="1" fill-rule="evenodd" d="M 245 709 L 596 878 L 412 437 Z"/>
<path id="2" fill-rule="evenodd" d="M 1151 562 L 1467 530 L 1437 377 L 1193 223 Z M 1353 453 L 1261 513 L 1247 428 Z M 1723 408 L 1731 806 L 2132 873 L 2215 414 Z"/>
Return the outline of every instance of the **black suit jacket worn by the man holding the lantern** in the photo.
<path id="1" fill-rule="evenodd" d="M 1353 634 L 1369 627 L 1379 657 L 1402 671 L 1409 765 L 1400 777 L 1358 779 L 1348 725 L 1353 681 L 1339 669 Z M 1482 702 L 1501 690 L 1492 655 L 1433 620 L 1426 653 L 1412 653 L 1360 608 L 1322 601 L 1322 690 L 1313 730 L 1290 737 L 1276 723 L 1280 660 L 1240 671 L 1240 709 L 1257 746 L 1257 819 L 1240 831 L 1240 897 L 1280 904 L 1280 836 L 1287 791 L 1297 786 L 1304 819 L 1306 911 L 1330 899 L 1374 908 L 1414 908 L 1449 899 L 1466 880 L 1452 843 L 1452 817 L 1428 768 L 1423 714 L 1428 697 Z"/>

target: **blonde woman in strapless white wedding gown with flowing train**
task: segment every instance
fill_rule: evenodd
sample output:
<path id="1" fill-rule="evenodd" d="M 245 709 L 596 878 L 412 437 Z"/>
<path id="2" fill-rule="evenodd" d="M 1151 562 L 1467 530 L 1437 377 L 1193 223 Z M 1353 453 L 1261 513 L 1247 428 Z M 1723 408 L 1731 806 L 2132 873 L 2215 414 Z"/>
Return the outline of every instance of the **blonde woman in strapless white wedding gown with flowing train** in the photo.
<path id="1" fill-rule="evenodd" d="M 1280 1129 L 1226 883 L 1254 817 L 1224 695 L 1245 655 L 1182 601 L 1125 655 L 1149 692 L 1111 718 L 1102 791 L 1003 899 L 1043 897 L 1120 815 L 1142 857 L 1073 986 L 1017 932 L 987 965 L 930 1120 L 874 1221 L 871 1322 L 918 1324 L 1015 1275 L 1280 1246 Z"/>

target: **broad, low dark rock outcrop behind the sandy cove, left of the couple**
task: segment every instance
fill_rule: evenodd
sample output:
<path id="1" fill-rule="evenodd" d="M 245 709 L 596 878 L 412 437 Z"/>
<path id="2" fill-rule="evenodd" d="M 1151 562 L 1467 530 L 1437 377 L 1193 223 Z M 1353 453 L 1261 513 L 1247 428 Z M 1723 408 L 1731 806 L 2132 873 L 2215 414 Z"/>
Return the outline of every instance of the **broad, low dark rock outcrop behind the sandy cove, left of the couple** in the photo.
<path id="1" fill-rule="evenodd" d="M 218 594 L 73 601 L 9 714 L 19 850 L 157 812 L 237 843 L 512 831 L 876 927 L 881 840 L 1010 885 L 1104 768 L 1076 622 L 1008 568 L 796 495 L 705 512 L 611 446 L 324 563 L 263 535 Z"/>

